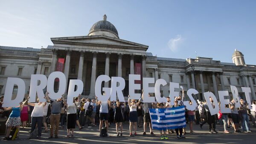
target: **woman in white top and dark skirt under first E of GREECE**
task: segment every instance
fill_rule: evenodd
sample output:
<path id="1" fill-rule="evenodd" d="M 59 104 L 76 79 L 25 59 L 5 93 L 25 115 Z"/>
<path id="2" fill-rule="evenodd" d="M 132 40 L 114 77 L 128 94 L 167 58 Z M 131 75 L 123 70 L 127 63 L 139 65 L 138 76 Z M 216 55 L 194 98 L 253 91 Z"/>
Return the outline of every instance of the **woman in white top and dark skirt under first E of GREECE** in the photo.
<path id="1" fill-rule="evenodd" d="M 130 113 L 129 113 L 129 121 L 130 121 L 130 136 L 132 136 L 132 127 L 134 127 L 134 136 L 137 136 L 137 121 L 138 121 L 138 116 L 137 116 L 137 106 L 140 104 L 139 102 L 135 103 L 135 99 L 132 99 L 130 102 L 130 95 L 128 96 L 128 104 L 130 108 Z"/>

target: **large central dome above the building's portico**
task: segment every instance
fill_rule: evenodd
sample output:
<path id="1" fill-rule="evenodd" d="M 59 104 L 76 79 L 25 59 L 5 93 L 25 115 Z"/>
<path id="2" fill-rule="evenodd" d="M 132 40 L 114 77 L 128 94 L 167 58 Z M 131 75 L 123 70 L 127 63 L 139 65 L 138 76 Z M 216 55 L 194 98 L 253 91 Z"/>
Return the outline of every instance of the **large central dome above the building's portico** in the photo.
<path id="1" fill-rule="evenodd" d="M 93 26 L 90 28 L 88 36 L 90 35 L 107 35 L 110 37 L 119 38 L 116 27 L 107 21 L 106 14 L 103 16 L 103 20 L 93 24 Z"/>

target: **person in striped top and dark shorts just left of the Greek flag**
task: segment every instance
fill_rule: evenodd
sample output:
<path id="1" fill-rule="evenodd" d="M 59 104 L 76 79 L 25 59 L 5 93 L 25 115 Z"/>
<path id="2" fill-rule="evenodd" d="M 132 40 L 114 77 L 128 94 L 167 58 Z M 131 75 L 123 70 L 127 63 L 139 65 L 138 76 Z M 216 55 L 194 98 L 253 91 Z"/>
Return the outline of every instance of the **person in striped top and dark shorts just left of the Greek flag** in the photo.
<path id="1" fill-rule="evenodd" d="M 142 99 L 144 98 L 143 90 L 142 90 L 141 98 Z M 143 105 L 144 105 L 144 118 L 143 118 L 143 120 L 144 120 L 144 124 L 143 124 L 144 132 L 143 132 L 143 136 L 146 135 L 147 123 L 149 124 L 150 134 L 154 135 L 154 133 L 152 131 L 153 129 L 152 129 L 152 124 L 151 124 L 151 118 L 150 118 L 150 115 L 149 115 L 149 109 L 153 108 L 152 103 L 151 102 L 144 102 Z"/>

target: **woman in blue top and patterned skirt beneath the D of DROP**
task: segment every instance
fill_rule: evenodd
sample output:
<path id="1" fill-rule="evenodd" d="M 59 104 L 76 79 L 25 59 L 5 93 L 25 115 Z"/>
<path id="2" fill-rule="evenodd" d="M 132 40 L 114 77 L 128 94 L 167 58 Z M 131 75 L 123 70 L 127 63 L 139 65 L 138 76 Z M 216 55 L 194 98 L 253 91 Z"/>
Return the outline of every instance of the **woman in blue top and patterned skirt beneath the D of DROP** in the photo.
<path id="1" fill-rule="evenodd" d="M 3 140 L 8 140 L 10 132 L 12 130 L 12 127 L 16 127 L 18 129 L 18 133 L 15 139 L 19 139 L 19 133 L 20 133 L 20 111 L 22 110 L 22 102 L 20 102 L 20 105 L 17 107 L 4 107 L 4 111 L 12 110 L 12 113 L 10 114 L 9 118 L 6 121 L 6 137 L 3 138 Z"/>

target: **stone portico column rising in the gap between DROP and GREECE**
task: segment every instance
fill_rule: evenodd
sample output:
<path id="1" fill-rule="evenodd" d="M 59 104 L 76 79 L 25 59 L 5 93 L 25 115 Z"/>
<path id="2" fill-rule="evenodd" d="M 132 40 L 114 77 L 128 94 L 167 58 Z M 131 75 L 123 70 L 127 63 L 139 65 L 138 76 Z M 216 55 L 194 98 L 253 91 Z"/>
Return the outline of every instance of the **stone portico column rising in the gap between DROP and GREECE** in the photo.
<path id="1" fill-rule="evenodd" d="M 90 98 L 95 96 L 97 54 L 98 52 L 93 51 L 93 66 L 92 66 L 91 85 L 90 85 Z"/>

